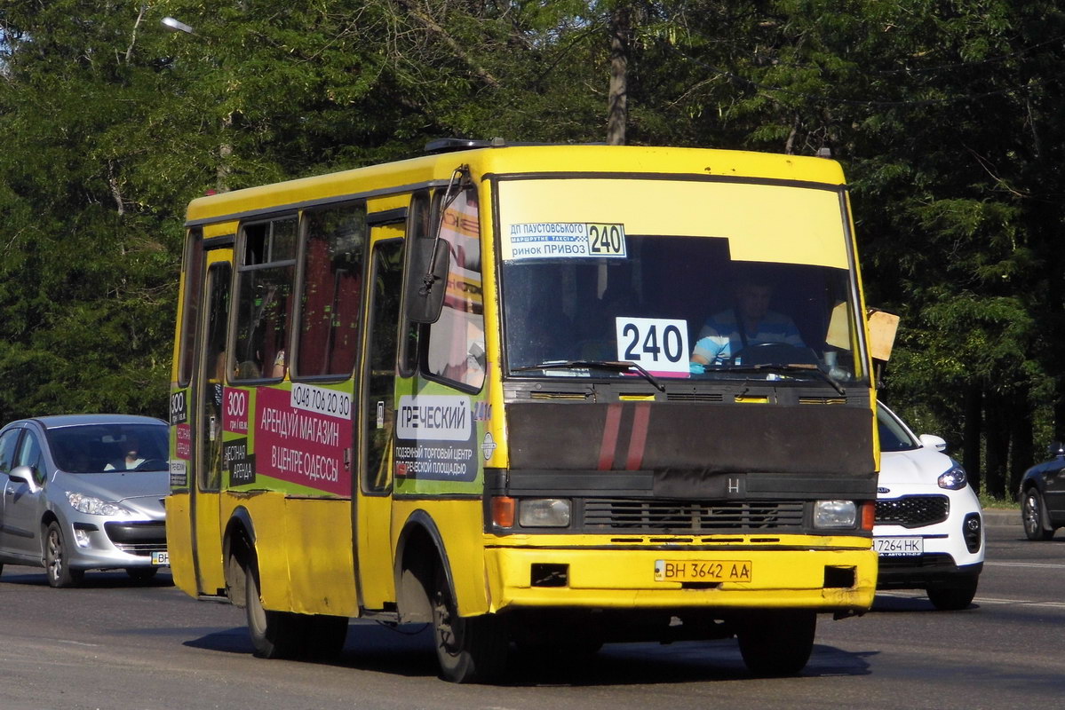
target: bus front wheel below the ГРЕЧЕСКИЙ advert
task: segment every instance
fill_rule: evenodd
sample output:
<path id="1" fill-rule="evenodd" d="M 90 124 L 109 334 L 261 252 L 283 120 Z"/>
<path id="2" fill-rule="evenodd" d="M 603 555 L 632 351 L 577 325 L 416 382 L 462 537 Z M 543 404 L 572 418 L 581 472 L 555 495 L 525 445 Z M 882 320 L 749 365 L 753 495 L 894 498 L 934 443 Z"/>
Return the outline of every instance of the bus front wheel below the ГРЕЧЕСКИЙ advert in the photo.
<path id="1" fill-rule="evenodd" d="M 494 614 L 459 616 L 443 569 L 433 575 L 432 635 L 440 677 L 456 683 L 491 682 L 507 665 L 507 631 Z"/>

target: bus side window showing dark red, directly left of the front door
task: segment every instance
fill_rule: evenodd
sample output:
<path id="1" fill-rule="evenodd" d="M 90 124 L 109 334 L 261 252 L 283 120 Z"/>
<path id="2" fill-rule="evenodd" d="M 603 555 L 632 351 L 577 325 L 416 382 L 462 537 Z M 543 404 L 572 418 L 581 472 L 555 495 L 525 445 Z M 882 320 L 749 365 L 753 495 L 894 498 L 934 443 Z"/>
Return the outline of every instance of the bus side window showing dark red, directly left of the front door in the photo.
<path id="1" fill-rule="evenodd" d="M 293 371 L 347 377 L 359 348 L 366 205 L 304 213 L 304 280 Z"/>

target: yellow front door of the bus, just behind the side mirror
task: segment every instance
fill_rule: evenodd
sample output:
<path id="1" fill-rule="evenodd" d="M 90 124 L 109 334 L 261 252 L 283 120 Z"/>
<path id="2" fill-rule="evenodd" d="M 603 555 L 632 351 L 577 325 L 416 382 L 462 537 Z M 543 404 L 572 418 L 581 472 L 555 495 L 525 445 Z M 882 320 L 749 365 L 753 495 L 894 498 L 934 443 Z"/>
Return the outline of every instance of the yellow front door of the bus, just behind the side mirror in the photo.
<path id="1" fill-rule="evenodd" d="M 403 225 L 371 232 L 370 307 L 362 363 L 356 552 L 362 606 L 395 599 L 392 572 L 392 446 L 396 401 L 396 346 L 403 293 Z"/>

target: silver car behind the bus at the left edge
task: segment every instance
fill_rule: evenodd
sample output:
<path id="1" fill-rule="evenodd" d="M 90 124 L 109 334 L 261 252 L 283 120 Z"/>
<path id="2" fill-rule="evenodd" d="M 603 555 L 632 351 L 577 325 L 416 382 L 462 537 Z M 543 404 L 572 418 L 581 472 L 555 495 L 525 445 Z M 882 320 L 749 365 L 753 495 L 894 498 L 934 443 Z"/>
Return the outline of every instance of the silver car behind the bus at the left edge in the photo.
<path id="1" fill-rule="evenodd" d="M 42 416 L 0 429 L 0 571 L 44 566 L 52 587 L 86 569 L 151 579 L 168 563 L 167 426 L 124 414 Z"/>

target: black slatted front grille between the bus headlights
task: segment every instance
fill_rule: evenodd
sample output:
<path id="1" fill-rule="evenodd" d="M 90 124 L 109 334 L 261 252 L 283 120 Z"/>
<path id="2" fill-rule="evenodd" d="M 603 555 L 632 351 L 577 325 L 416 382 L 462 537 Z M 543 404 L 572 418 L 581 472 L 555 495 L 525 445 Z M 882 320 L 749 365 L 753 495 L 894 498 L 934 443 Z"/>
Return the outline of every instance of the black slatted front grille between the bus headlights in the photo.
<path id="1" fill-rule="evenodd" d="M 591 498 L 585 500 L 587 530 L 780 530 L 803 527 L 801 500 L 689 501 Z"/>

